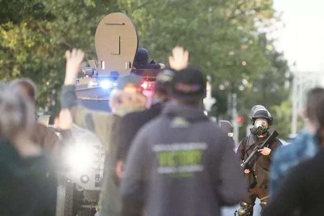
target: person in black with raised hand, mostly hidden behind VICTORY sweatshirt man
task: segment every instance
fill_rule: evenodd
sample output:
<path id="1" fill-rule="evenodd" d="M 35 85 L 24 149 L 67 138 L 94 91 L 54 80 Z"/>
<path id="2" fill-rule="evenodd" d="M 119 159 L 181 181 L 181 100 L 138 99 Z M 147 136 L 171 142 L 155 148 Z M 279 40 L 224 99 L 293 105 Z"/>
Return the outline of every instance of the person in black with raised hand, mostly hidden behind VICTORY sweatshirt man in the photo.
<path id="1" fill-rule="evenodd" d="M 109 194 L 114 189 L 119 189 L 119 179 L 123 177 L 124 162 L 126 161 L 132 140 L 143 125 L 161 113 L 165 103 L 169 100 L 167 91 L 173 78 L 173 70 L 180 70 L 188 66 L 188 51 L 184 51 L 182 47 L 175 47 L 172 53 L 172 58 L 170 58 L 171 68 L 160 72 L 155 82 L 155 92 L 151 107 L 142 111 L 130 112 L 121 117 L 118 124 L 115 124 L 116 130 L 112 135 L 114 140 L 110 146 L 109 173 L 103 182 L 104 192 L 100 202 L 100 216 L 109 216 L 107 208 L 111 203 L 115 205 L 116 202 L 121 203 L 119 197 L 113 197 Z"/>

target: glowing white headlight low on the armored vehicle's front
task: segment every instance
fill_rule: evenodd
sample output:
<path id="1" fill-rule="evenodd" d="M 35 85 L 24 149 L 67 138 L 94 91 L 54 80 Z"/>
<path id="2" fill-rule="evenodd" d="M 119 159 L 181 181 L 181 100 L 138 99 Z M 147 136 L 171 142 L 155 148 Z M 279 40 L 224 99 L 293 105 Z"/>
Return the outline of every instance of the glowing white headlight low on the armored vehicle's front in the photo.
<path id="1" fill-rule="evenodd" d="M 92 145 L 75 144 L 66 152 L 66 162 L 73 170 L 92 168 L 96 160 L 95 148 Z"/>

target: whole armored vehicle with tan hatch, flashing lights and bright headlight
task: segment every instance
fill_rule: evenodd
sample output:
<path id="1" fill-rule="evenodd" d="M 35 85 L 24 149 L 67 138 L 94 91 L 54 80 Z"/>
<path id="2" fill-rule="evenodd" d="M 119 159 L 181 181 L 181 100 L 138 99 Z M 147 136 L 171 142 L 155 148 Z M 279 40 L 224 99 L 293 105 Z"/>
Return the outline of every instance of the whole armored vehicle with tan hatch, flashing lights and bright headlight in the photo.
<path id="1" fill-rule="evenodd" d="M 105 16 L 95 33 L 95 49 L 98 60 L 90 60 L 90 67 L 83 68 L 81 77 L 76 80 L 79 104 L 88 109 L 110 112 L 110 92 L 117 87 L 119 76 L 130 73 L 141 76 L 143 93 L 148 97 L 152 95 L 161 69 L 157 66 L 133 66 L 138 36 L 128 16 L 122 13 Z M 152 60 L 148 64 L 154 63 Z M 41 116 L 38 121 L 55 130 L 52 116 Z M 73 124 L 72 133 L 75 142 L 64 146 L 62 152 L 62 161 L 68 168 L 59 173 L 56 215 L 92 216 L 99 200 L 105 149 L 96 135 L 76 124 Z"/>

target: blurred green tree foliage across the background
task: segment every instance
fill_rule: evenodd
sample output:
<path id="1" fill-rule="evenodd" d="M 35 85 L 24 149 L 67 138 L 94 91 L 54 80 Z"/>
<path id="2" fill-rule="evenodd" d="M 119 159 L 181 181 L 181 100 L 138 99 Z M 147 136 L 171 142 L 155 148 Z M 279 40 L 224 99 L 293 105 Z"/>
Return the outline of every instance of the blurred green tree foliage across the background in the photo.
<path id="1" fill-rule="evenodd" d="M 190 63 L 212 76 L 217 115 L 226 112 L 226 92 L 242 79 L 262 79 L 265 84 L 271 79 L 281 86 L 282 71 L 274 65 L 280 56 L 265 52 L 257 33 L 274 19 L 272 0 L 0 0 L 1 12 L 0 78 L 34 80 L 41 106 L 46 105 L 49 89 L 62 84 L 66 49 L 78 47 L 87 59 L 96 58 L 95 30 L 111 12 L 125 13 L 134 21 L 139 45 L 156 61 L 167 63 L 175 45 L 189 49 Z M 229 88 L 220 92 L 223 81 Z M 255 99 L 280 104 L 285 97 L 280 95 L 278 99 L 278 94 L 261 91 L 238 92 L 240 113 L 246 113 Z"/>

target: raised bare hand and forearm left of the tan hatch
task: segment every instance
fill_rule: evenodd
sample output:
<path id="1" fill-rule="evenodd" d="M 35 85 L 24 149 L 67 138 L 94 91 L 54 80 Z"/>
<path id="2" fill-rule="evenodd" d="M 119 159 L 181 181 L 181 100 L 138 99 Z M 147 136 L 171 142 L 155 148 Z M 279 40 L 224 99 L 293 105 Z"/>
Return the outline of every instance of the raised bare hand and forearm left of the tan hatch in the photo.
<path id="1" fill-rule="evenodd" d="M 82 62 L 84 59 L 84 52 L 82 50 L 73 49 L 65 53 L 66 56 L 66 69 L 65 69 L 65 85 L 72 85 L 81 70 Z"/>

